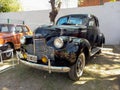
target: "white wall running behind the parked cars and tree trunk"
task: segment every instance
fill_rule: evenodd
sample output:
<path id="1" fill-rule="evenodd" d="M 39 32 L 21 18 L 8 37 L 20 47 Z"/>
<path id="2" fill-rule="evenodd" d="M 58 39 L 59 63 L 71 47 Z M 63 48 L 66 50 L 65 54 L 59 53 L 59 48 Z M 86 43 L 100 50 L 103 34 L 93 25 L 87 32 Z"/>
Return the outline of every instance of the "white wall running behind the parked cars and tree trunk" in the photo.
<path id="1" fill-rule="evenodd" d="M 0 18 L 25 20 L 26 24 L 34 30 L 39 25 L 49 24 L 49 12 L 50 10 L 1 13 Z M 120 2 L 106 3 L 103 6 L 61 9 L 57 18 L 71 13 L 90 13 L 96 15 L 100 22 L 101 32 L 106 37 L 106 44 L 120 44 Z"/>

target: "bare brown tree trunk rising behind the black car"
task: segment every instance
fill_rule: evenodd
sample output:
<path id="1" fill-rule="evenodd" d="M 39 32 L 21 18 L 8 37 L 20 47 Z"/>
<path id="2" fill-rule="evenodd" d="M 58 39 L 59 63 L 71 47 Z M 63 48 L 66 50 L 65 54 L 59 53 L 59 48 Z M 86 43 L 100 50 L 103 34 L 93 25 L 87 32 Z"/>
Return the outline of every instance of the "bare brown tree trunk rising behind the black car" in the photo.
<path id="1" fill-rule="evenodd" d="M 50 22 L 55 24 L 55 18 L 60 10 L 62 2 L 61 0 L 57 0 L 57 2 L 55 2 L 55 0 L 50 0 L 49 3 L 51 4 L 51 12 L 49 13 Z"/>

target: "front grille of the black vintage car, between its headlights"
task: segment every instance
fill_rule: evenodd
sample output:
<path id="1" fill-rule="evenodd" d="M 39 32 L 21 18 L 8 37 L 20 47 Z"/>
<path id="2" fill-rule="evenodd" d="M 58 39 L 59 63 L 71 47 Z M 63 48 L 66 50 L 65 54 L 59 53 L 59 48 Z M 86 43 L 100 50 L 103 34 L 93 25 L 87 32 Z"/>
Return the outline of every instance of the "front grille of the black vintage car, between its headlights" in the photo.
<path id="1" fill-rule="evenodd" d="M 49 59 L 54 60 L 54 49 L 46 45 L 44 38 L 34 39 L 34 43 L 27 45 L 26 50 L 28 54 L 36 55 L 38 59 L 46 55 Z"/>

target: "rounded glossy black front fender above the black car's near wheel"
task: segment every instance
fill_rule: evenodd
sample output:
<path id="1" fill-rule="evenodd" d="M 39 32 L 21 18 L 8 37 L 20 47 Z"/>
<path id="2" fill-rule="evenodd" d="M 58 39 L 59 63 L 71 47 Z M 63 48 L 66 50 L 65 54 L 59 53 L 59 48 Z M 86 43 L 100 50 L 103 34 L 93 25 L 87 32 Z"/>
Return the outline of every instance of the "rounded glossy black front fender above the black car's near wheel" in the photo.
<path id="1" fill-rule="evenodd" d="M 87 53 L 89 54 L 89 42 L 86 39 L 75 38 L 72 42 L 67 43 L 64 49 L 56 50 L 55 55 L 56 57 L 62 58 L 62 60 L 67 60 L 70 64 L 74 64 L 84 49 L 87 49 Z"/>

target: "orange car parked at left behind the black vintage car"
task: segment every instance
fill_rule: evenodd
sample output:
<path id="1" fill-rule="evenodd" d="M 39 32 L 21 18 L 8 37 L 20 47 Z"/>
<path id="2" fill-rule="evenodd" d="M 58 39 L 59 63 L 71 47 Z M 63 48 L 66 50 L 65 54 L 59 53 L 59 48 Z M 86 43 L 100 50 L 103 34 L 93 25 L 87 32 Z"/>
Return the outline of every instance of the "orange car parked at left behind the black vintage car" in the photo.
<path id="1" fill-rule="evenodd" d="M 23 35 L 32 35 L 32 31 L 26 25 L 0 24 L 0 47 L 7 45 L 7 49 L 19 49 L 20 38 Z M 6 50 L 7 50 L 6 49 Z M 11 57 L 11 53 L 3 54 L 3 58 Z"/>

